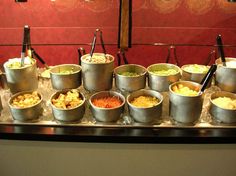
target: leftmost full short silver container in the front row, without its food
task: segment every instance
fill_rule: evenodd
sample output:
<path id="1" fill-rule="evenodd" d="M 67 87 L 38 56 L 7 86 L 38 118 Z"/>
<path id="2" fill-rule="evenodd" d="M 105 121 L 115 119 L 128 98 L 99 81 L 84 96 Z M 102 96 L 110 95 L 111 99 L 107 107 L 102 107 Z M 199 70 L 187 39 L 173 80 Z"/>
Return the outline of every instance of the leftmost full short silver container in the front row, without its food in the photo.
<path id="1" fill-rule="evenodd" d="M 18 121 L 23 121 L 23 122 L 27 122 L 27 121 L 37 121 L 39 119 L 39 117 L 42 115 L 43 113 L 43 108 L 42 108 L 42 95 L 40 93 L 38 93 L 39 97 L 41 98 L 40 101 L 30 107 L 25 107 L 25 108 L 20 108 L 20 107 L 14 107 L 12 106 L 12 101 L 14 98 L 16 98 L 19 95 L 23 95 L 26 93 L 32 93 L 33 91 L 24 91 L 24 92 L 19 92 L 14 94 L 8 101 L 8 105 L 10 107 L 10 111 L 12 114 L 12 117 L 14 120 L 18 120 Z"/>

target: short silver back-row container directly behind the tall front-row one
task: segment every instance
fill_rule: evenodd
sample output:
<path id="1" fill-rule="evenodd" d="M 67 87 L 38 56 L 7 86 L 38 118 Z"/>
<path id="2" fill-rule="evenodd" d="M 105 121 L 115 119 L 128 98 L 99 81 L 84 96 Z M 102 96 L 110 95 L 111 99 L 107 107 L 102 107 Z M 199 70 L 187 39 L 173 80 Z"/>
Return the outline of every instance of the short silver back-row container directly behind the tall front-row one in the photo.
<path id="1" fill-rule="evenodd" d="M 189 71 L 186 71 L 185 68 L 189 67 L 193 64 L 187 64 L 187 65 L 183 65 L 181 67 L 182 70 L 182 80 L 184 81 L 193 81 L 193 82 L 197 82 L 197 83 L 201 83 L 202 79 L 205 77 L 206 73 L 192 73 Z M 199 66 L 205 66 L 205 65 L 199 65 Z M 211 81 L 209 82 L 209 85 L 211 84 Z"/>

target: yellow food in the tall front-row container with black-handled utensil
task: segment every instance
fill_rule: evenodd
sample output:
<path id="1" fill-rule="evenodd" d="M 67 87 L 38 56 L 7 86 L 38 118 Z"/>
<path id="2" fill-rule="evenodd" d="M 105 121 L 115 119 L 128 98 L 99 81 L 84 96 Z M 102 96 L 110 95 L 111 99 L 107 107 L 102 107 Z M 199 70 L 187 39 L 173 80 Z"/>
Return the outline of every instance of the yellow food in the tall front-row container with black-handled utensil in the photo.
<path id="1" fill-rule="evenodd" d="M 184 86 L 183 84 L 177 84 L 172 87 L 173 92 L 184 95 L 184 96 L 196 96 L 198 95 L 198 91 L 190 89 L 187 86 Z"/>

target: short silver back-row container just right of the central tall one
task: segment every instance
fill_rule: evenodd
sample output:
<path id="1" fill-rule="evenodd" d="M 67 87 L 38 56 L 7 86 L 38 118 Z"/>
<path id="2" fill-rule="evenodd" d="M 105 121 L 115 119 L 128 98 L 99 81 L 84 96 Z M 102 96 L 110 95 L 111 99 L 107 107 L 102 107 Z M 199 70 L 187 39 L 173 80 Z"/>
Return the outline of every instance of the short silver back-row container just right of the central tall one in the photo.
<path id="1" fill-rule="evenodd" d="M 135 72 L 137 76 L 124 76 L 123 72 Z M 136 64 L 121 65 L 114 69 L 116 87 L 122 92 L 133 92 L 146 87 L 145 67 Z"/>

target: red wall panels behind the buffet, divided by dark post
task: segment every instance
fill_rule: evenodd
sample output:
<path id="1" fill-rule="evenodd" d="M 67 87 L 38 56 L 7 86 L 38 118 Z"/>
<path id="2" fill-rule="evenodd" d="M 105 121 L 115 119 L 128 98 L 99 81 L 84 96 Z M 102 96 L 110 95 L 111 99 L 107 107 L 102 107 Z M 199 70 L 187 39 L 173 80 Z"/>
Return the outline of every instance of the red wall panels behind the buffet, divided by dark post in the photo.
<path id="1" fill-rule="evenodd" d="M 117 52 L 118 0 L 0 1 L 1 63 L 19 57 L 23 26 L 31 26 L 36 51 L 49 65 L 78 63 L 77 48 L 88 51 L 93 32 L 101 28 L 108 53 Z M 236 56 L 236 3 L 226 0 L 133 0 L 133 47 L 130 62 L 148 66 L 164 62 L 174 44 L 180 64 L 205 63 L 217 34 L 227 56 Z M 204 46 L 207 45 L 207 46 Z M 96 51 L 101 51 L 97 46 Z M 174 62 L 173 55 L 171 62 Z"/>

